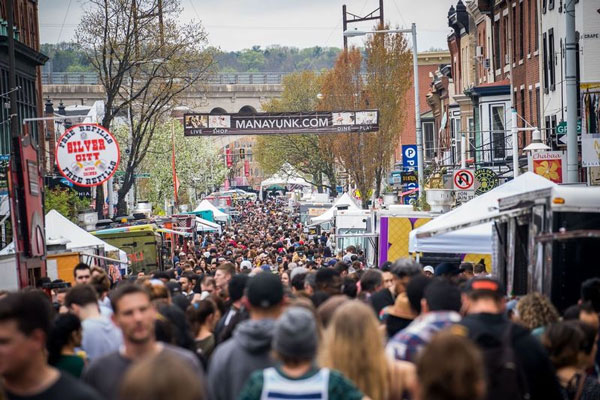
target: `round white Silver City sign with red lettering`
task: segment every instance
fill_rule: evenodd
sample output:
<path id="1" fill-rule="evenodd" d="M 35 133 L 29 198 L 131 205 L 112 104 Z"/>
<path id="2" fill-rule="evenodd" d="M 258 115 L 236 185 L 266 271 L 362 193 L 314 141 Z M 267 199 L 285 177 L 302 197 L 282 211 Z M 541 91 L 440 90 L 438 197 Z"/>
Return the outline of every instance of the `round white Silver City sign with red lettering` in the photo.
<path id="1" fill-rule="evenodd" d="M 98 186 L 117 171 L 121 152 L 115 137 L 98 124 L 73 125 L 56 144 L 61 175 L 77 186 Z"/>

